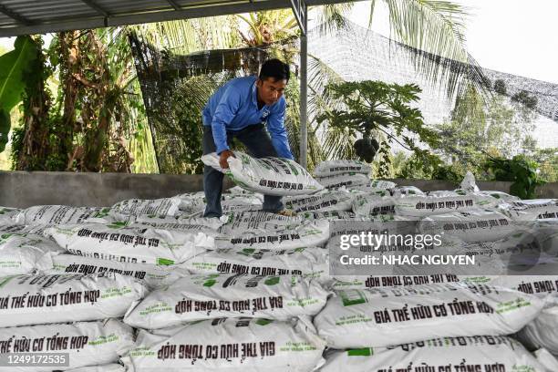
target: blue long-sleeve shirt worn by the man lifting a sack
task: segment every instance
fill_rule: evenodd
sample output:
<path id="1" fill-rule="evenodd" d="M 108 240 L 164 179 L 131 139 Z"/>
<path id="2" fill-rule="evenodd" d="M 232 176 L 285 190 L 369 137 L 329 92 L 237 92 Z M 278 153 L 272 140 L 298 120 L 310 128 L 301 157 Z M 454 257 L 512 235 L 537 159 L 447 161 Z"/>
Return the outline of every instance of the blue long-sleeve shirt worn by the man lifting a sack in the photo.
<path id="1" fill-rule="evenodd" d="M 266 122 L 277 155 L 294 159 L 284 129 L 286 101 L 281 97 L 273 105 L 258 109 L 256 79 L 254 76 L 233 78 L 213 93 L 202 111 L 203 125 L 212 127 L 217 153 L 221 153 L 229 150 L 227 130 L 241 130 Z"/>

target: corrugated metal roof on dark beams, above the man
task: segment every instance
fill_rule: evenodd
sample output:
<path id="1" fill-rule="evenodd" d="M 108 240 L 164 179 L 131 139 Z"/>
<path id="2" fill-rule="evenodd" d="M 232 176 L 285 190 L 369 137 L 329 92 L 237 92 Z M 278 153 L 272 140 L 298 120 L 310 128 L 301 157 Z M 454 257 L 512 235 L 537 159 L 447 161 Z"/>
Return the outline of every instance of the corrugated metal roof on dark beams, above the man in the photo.
<path id="1" fill-rule="evenodd" d="M 0 37 L 288 8 L 301 0 L 0 0 Z M 306 5 L 343 3 L 306 0 Z"/>

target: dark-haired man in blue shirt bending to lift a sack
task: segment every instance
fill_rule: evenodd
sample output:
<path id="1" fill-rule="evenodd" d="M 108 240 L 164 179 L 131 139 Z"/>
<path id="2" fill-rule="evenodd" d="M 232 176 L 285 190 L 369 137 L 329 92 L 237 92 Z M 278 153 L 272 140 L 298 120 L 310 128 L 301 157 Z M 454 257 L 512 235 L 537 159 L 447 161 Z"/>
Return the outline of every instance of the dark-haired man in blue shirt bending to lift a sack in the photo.
<path id="1" fill-rule="evenodd" d="M 219 88 L 202 111 L 203 154 L 217 152 L 221 168 L 229 168 L 227 159 L 234 156 L 229 146 L 236 138 L 255 158 L 294 159 L 284 129 L 283 93 L 289 78 L 289 65 L 270 59 L 259 77 L 233 78 Z M 222 172 L 203 167 L 204 217 L 222 215 L 222 178 Z M 284 209 L 280 196 L 264 195 L 263 211 L 294 215 Z"/>

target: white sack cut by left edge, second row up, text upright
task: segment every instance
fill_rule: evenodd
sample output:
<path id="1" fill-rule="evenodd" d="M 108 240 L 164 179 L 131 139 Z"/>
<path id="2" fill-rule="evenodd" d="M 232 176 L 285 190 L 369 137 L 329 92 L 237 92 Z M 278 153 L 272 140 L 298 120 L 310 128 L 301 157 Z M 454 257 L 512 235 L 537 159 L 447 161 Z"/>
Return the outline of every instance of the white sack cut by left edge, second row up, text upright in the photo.
<path id="1" fill-rule="evenodd" d="M 120 274 L 15 275 L 0 278 L 0 327 L 119 317 L 146 293 Z"/>

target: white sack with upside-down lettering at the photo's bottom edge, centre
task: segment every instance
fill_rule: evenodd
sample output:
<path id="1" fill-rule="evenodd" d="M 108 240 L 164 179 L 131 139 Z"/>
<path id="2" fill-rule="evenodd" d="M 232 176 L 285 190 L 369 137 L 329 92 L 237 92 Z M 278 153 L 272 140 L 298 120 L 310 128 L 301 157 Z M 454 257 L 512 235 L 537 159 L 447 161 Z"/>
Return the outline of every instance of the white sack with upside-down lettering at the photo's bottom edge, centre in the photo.
<path id="1" fill-rule="evenodd" d="M 300 320 L 213 319 L 140 331 L 122 361 L 129 372 L 310 372 L 324 346 Z"/>

